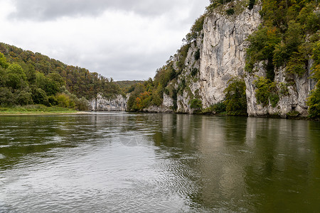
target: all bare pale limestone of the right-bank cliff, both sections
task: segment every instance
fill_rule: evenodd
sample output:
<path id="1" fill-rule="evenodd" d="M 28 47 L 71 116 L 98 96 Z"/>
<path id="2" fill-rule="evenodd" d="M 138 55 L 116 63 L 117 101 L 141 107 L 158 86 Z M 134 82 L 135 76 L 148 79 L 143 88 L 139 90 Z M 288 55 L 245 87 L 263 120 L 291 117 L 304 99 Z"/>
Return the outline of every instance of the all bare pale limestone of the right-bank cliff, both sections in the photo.
<path id="1" fill-rule="evenodd" d="M 249 44 L 246 40 L 248 35 L 256 31 L 262 23 L 259 13 L 262 6 L 258 2 L 250 10 L 242 5 L 241 1 L 236 2 L 239 4 L 238 13 L 231 16 L 218 10 L 206 14 L 203 30 L 188 49 L 181 75 L 177 77 L 176 81 L 169 83 L 169 86 L 171 85 L 177 90 L 181 88 L 181 84 L 186 85 L 177 94 L 176 111 L 192 114 L 194 111 L 191 108 L 192 99 L 200 99 L 203 109 L 223 102 L 225 98 L 223 91 L 228 87 L 228 81 L 232 77 L 240 77 L 245 80 L 247 87 L 247 113 L 249 116 L 276 114 L 286 117 L 290 111 L 297 111 L 300 115 L 307 116 L 306 98 L 315 86 L 314 80 L 310 78 L 312 60 L 309 60 L 307 72 L 303 76 L 294 75 L 293 83 L 287 82 L 285 67 L 275 69 L 274 83 L 277 85 L 277 89 L 285 85 L 287 93 L 279 96 L 279 102 L 276 106 L 272 107 L 272 104 L 262 106 L 257 103 L 255 80 L 257 77 L 265 77 L 266 70 L 262 65 L 263 62 L 260 62 L 255 66 L 255 72 L 245 72 L 245 53 Z M 225 5 L 225 8 L 228 7 L 230 5 Z M 200 53 L 198 58 L 195 57 L 197 52 Z M 174 60 L 174 65 L 176 65 L 178 55 L 174 56 Z M 178 69 L 177 66 L 175 68 Z M 196 75 L 194 70 L 197 71 Z M 163 108 L 172 109 L 173 103 L 174 99 L 170 100 L 170 97 L 165 94 L 161 111 L 164 111 Z"/>

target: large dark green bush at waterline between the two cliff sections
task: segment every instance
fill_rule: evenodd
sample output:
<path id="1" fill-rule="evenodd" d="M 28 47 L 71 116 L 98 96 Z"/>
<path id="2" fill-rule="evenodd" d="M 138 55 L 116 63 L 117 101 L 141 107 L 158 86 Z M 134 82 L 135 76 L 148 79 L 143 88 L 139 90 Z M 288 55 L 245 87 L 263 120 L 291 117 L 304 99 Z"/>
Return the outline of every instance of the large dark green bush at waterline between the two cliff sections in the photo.
<path id="1" fill-rule="evenodd" d="M 225 110 L 228 114 L 247 114 L 247 97 L 245 94 L 245 81 L 233 77 L 225 88 Z"/>

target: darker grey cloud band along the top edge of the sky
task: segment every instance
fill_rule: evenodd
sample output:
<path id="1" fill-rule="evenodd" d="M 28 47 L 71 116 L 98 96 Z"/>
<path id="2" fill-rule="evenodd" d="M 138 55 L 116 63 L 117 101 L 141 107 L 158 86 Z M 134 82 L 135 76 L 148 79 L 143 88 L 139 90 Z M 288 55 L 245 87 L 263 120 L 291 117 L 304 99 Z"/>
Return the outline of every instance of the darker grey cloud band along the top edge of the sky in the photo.
<path id="1" fill-rule="evenodd" d="M 108 9 L 134 11 L 142 16 L 158 16 L 173 10 L 186 0 L 14 0 L 16 11 L 10 18 L 48 21 L 61 16 L 98 16 Z"/>

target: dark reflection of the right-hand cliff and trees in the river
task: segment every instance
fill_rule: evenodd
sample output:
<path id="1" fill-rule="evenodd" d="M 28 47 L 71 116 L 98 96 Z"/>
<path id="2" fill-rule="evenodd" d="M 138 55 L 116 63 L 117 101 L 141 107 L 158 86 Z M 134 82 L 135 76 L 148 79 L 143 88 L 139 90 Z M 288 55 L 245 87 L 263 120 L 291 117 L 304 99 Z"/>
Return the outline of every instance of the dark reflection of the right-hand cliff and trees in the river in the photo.
<path id="1" fill-rule="evenodd" d="M 162 129 L 154 134 L 154 143 L 168 152 L 178 148 L 179 155 L 175 150 L 174 158 L 193 153 L 192 160 L 180 162 L 193 170 L 188 180 L 196 182 L 198 188 L 188 198 L 194 205 L 236 212 L 302 209 L 307 206 L 301 205 L 307 197 L 304 187 L 317 180 L 316 175 L 309 180 L 306 174 L 319 173 L 319 164 L 314 165 L 309 149 L 316 139 L 308 138 L 306 124 L 314 123 L 163 115 Z M 315 161 L 319 163 L 319 157 Z M 282 204 L 286 199 L 292 202 Z M 247 209 L 240 208 L 243 206 Z"/>

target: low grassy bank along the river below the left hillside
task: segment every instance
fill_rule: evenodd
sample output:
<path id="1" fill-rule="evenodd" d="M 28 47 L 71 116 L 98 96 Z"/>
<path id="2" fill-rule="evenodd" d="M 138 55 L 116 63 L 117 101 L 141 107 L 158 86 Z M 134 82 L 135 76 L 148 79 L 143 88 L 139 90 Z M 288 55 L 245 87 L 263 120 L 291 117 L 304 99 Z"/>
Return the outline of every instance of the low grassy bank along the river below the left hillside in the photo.
<path id="1" fill-rule="evenodd" d="M 6 114 L 64 114 L 76 113 L 75 109 L 68 109 L 63 107 L 46 107 L 41 104 L 15 106 L 15 107 L 0 107 L 0 115 Z"/>

